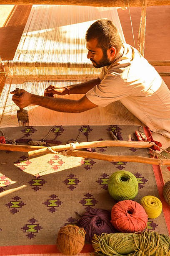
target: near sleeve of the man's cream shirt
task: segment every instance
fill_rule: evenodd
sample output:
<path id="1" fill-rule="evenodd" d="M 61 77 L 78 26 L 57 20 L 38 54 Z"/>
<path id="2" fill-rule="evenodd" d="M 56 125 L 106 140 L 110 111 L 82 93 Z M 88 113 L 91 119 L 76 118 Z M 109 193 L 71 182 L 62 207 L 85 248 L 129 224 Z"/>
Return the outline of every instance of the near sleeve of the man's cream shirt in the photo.
<path id="1" fill-rule="evenodd" d="M 86 93 L 92 103 L 105 107 L 111 102 L 121 100 L 131 95 L 128 84 L 116 74 L 107 74 L 100 84 Z"/>

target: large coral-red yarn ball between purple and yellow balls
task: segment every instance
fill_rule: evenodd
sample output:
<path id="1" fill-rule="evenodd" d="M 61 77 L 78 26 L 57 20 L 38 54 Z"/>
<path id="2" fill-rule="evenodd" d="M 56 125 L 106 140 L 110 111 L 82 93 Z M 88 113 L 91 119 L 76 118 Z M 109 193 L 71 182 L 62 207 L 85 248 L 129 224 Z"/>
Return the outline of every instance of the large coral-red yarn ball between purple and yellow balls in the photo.
<path id="1" fill-rule="evenodd" d="M 111 219 L 112 225 L 120 232 L 134 233 L 146 228 L 148 215 L 138 202 L 124 200 L 112 207 Z"/>

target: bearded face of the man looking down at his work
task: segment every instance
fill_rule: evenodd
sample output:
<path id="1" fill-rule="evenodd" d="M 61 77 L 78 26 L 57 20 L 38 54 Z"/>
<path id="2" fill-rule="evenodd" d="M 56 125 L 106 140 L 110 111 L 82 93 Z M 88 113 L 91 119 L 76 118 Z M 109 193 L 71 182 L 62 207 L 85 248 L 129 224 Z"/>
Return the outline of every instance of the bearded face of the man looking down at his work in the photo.
<path id="1" fill-rule="evenodd" d="M 107 51 L 103 51 L 102 48 L 98 48 L 97 39 L 91 39 L 90 41 L 87 41 L 86 47 L 88 50 L 87 59 L 92 61 L 92 64 L 95 68 L 108 66 L 112 63 L 107 53 L 107 51 L 109 52 L 109 49 Z"/>

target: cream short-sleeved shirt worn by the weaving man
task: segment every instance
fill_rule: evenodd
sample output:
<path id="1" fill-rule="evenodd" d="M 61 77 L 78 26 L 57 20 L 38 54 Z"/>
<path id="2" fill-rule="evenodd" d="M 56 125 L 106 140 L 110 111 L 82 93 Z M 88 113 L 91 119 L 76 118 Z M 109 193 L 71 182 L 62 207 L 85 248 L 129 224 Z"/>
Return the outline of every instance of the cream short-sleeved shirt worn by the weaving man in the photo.
<path id="1" fill-rule="evenodd" d="M 86 93 L 88 100 L 102 107 L 120 100 L 151 131 L 170 138 L 170 90 L 135 48 L 123 44 L 99 78 L 102 82 Z"/>

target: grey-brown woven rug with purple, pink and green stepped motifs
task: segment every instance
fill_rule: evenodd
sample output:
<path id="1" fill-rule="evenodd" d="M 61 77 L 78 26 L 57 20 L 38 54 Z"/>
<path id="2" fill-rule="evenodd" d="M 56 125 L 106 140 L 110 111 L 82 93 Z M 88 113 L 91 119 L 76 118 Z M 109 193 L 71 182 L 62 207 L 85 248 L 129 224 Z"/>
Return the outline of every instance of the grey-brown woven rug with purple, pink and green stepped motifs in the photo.
<path id="1" fill-rule="evenodd" d="M 45 127 L 1 128 L 9 139 L 41 140 L 50 131 Z M 54 126 L 49 140 L 66 144 L 77 141 L 111 140 L 116 131 L 121 140 L 136 140 L 137 126 Z M 50 146 L 50 144 L 49 144 Z M 148 157 L 145 148 L 100 147 L 96 152 L 112 155 Z M 59 253 L 57 232 L 67 224 L 76 224 L 91 208 L 111 210 L 115 201 L 107 190 L 113 172 L 126 170 L 138 179 L 135 201 L 154 195 L 163 203 L 156 219 L 148 220 L 148 230 L 169 235 L 170 208 L 163 199 L 163 176 L 159 166 L 133 162 L 108 162 L 55 154 L 28 158 L 25 152 L 0 152 L 0 255 L 51 255 Z M 86 244 L 81 255 L 93 252 Z"/>

